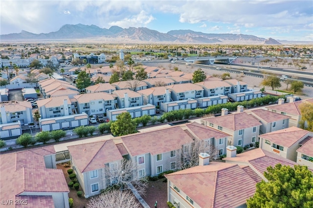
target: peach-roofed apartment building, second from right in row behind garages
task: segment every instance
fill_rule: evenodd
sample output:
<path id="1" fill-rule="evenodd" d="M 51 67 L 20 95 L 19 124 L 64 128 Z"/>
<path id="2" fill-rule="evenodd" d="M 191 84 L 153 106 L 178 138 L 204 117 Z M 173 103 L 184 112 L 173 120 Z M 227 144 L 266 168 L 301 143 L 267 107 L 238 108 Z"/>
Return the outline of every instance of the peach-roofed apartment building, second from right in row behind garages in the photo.
<path id="1" fill-rule="evenodd" d="M 201 86 L 204 89 L 204 97 L 228 95 L 228 93 L 231 93 L 231 85 L 223 81 L 204 81 L 195 84 Z"/>

